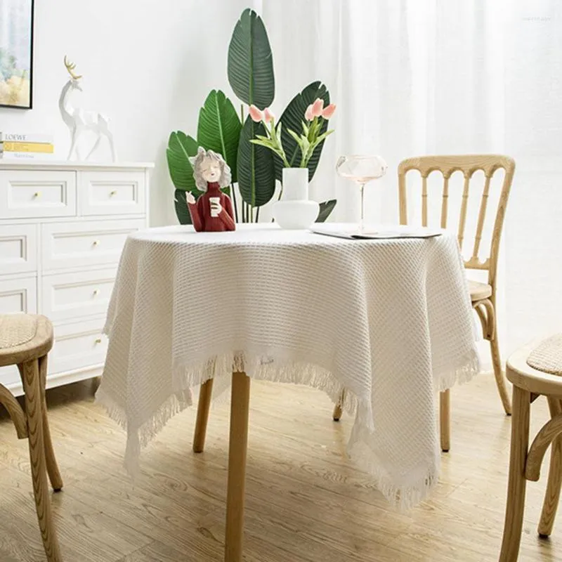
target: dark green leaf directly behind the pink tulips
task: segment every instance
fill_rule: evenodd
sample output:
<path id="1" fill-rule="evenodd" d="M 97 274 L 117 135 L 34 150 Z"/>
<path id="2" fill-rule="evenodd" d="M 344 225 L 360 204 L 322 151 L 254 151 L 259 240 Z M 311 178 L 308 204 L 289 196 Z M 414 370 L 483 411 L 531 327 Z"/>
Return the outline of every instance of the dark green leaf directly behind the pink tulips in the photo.
<path id="1" fill-rule="evenodd" d="M 283 148 L 285 148 L 285 155 L 287 155 L 287 160 L 292 166 L 299 166 L 301 163 L 301 149 L 296 139 L 291 136 L 289 129 L 291 131 L 298 131 L 300 135 L 302 131 L 302 123 L 304 119 L 304 112 L 308 105 L 314 102 L 316 98 L 321 98 L 324 100 L 324 106 L 329 105 L 329 92 L 322 82 L 316 81 L 312 84 L 308 84 L 303 91 L 297 93 L 296 96 L 290 101 L 289 105 L 281 115 L 279 121 L 282 124 L 281 141 L 283 143 Z M 320 134 L 325 133 L 328 130 L 328 122 L 326 119 L 322 120 L 322 126 L 320 128 Z M 308 181 L 311 181 L 314 177 L 316 168 L 318 167 L 318 162 L 320 162 L 320 155 L 322 154 L 322 147 L 324 146 L 324 141 L 322 141 L 314 149 L 313 155 L 308 162 Z M 279 157 L 275 157 L 275 178 L 282 181 L 283 176 L 283 162 Z"/>

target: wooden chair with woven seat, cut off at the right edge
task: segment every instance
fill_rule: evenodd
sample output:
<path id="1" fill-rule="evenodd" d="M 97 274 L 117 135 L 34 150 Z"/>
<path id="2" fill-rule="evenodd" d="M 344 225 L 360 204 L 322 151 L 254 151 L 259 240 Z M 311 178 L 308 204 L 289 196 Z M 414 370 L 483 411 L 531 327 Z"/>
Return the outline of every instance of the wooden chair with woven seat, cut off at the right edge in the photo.
<path id="1" fill-rule="evenodd" d="M 562 334 L 541 344 L 529 345 L 507 361 L 507 378 L 513 383 L 511 456 L 505 514 L 504 539 L 499 562 L 514 562 L 519 553 L 525 486 L 537 481 L 544 453 L 552 445 L 547 492 L 539 523 L 539 536 L 552 532 L 562 483 Z M 530 405 L 546 396 L 551 419 L 542 426 L 529 447 Z"/>

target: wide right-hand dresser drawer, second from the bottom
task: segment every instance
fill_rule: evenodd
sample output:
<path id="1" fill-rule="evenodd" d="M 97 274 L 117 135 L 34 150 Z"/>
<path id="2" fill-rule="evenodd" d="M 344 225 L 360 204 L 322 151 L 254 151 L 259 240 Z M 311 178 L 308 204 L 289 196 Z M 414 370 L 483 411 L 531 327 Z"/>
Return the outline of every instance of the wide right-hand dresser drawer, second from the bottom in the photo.
<path id="1" fill-rule="evenodd" d="M 44 275 L 41 287 L 42 313 L 53 321 L 105 314 L 115 268 Z"/>

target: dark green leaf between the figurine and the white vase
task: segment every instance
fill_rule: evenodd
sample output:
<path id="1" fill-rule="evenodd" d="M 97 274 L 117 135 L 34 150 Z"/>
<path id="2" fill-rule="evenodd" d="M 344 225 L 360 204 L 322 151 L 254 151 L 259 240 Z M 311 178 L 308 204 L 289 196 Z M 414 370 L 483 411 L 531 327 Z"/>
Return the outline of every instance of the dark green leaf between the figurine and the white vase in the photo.
<path id="1" fill-rule="evenodd" d="M 261 207 L 275 193 L 275 166 L 271 150 L 250 142 L 256 134 L 265 135 L 266 128 L 248 115 L 238 144 L 238 189 L 245 202 Z"/>

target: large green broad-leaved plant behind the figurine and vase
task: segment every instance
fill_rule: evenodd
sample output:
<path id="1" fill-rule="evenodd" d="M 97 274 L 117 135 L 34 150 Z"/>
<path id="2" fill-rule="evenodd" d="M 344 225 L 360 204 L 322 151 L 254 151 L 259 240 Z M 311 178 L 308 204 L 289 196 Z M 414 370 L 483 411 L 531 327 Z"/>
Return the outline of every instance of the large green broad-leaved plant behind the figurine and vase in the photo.
<path id="1" fill-rule="evenodd" d="M 291 100 L 279 119 L 280 141 L 290 162 L 275 155 L 256 139 L 266 136 L 266 128 L 248 115 L 244 119 L 244 104 L 269 107 L 275 97 L 275 74 L 273 54 L 269 44 L 266 26 L 253 10 L 247 8 L 237 21 L 228 47 L 228 81 L 242 103 L 240 117 L 235 105 L 221 90 L 212 90 L 199 112 L 197 139 L 182 131 L 173 131 L 169 136 L 166 158 L 170 177 L 176 188 L 174 200 L 176 215 L 181 224 L 190 224 L 191 218 L 185 203 L 185 192 L 190 191 L 197 198 L 201 192 L 195 186 L 190 157 L 197 155 L 197 147 L 214 150 L 223 155 L 232 171 L 232 185 L 224 188 L 233 196 L 237 222 L 259 221 L 259 209 L 275 195 L 275 180 L 281 180 L 282 169 L 289 163 L 298 166 L 301 160 L 301 146 L 292 131 L 299 131 L 306 108 L 317 98 L 329 104 L 326 86 L 315 81 L 306 86 Z M 320 133 L 327 131 L 327 119 L 322 120 Z M 308 178 L 315 174 L 322 146 L 318 145 L 308 155 L 306 167 Z M 238 209 L 236 187 L 242 200 Z M 335 200 L 320 203 L 317 221 L 323 222 L 336 205 Z"/>

